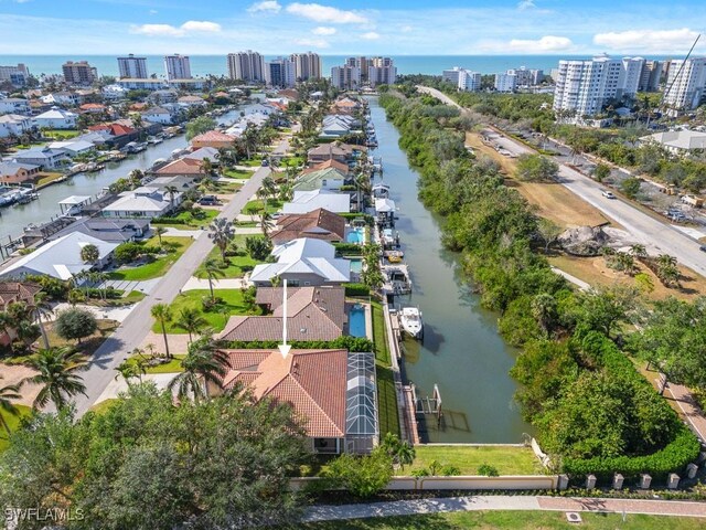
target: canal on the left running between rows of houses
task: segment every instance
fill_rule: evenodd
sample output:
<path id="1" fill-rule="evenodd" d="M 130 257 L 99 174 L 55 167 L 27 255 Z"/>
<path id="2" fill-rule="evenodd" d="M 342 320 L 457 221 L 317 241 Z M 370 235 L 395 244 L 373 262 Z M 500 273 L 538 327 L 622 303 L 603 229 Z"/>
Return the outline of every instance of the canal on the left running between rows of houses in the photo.
<path id="1" fill-rule="evenodd" d="M 244 109 L 247 106 L 243 107 Z M 231 110 L 218 117 L 216 121 L 231 125 L 239 118 L 240 109 Z M 111 162 L 106 169 L 95 173 L 78 173 L 56 184 L 40 190 L 38 200 L 28 204 L 2 209 L 0 216 L 0 241 L 6 242 L 8 236 L 17 237 L 22 234 L 24 226 L 30 223 L 41 224 L 61 214 L 58 202 L 69 195 L 92 195 L 100 193 L 119 178 L 127 177 L 133 169 L 145 171 L 149 169 L 158 158 L 169 159 L 172 151 L 183 149 L 188 145 L 184 135 L 169 138 L 156 146 L 149 146 L 147 150 L 129 156 L 121 162 Z"/>

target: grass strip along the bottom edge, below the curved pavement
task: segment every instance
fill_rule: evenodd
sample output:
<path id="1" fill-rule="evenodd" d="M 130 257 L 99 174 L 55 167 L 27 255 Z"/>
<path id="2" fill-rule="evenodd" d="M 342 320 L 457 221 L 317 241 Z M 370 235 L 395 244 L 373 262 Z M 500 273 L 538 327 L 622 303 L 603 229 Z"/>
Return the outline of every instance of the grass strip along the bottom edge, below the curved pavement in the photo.
<path id="1" fill-rule="evenodd" d="M 353 519 L 349 521 L 311 522 L 289 528 L 306 530 L 697 530 L 704 520 L 686 517 L 581 512 L 584 522 L 566 520 L 561 511 L 461 511 L 422 516 Z"/>

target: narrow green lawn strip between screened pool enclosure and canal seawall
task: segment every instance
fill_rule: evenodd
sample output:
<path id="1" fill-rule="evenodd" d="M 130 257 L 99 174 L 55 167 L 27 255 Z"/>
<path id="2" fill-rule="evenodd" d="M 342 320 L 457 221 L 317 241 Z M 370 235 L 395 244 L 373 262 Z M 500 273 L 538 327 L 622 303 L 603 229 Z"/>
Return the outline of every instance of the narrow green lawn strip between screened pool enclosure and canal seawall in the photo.
<path id="1" fill-rule="evenodd" d="M 373 301 L 373 340 L 375 342 L 375 372 L 377 374 L 377 403 L 379 432 L 399 436 L 399 415 L 397 414 L 397 392 L 391 367 L 389 349 L 385 335 L 383 306 Z"/>

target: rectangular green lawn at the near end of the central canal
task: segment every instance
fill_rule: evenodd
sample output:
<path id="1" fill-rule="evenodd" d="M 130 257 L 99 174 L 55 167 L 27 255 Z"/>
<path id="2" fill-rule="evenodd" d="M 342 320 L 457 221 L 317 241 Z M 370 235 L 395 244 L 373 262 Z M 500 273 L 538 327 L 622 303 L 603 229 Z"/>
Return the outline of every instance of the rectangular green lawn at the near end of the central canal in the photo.
<path id="1" fill-rule="evenodd" d="M 478 475 L 478 468 L 489 464 L 500 475 L 542 474 L 542 464 L 530 447 L 471 447 L 471 446 L 415 446 L 417 456 L 411 466 L 398 470 L 398 475 L 409 475 L 413 469 L 429 468 L 432 460 L 442 466 L 451 465 L 461 470 L 461 475 Z"/>

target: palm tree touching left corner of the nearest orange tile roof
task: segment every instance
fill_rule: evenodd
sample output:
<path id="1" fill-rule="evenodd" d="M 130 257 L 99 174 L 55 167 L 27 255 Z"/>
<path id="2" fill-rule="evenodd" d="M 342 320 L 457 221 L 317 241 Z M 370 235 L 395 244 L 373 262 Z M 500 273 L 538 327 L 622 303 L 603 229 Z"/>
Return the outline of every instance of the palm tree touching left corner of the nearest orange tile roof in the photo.
<path id="1" fill-rule="evenodd" d="M 180 399 L 193 395 L 199 402 L 207 398 L 206 384 L 221 384 L 229 367 L 228 356 L 216 350 L 210 337 L 202 337 L 189 344 L 189 353 L 181 361 L 183 372 L 172 379 L 168 388 L 175 388 Z"/>

